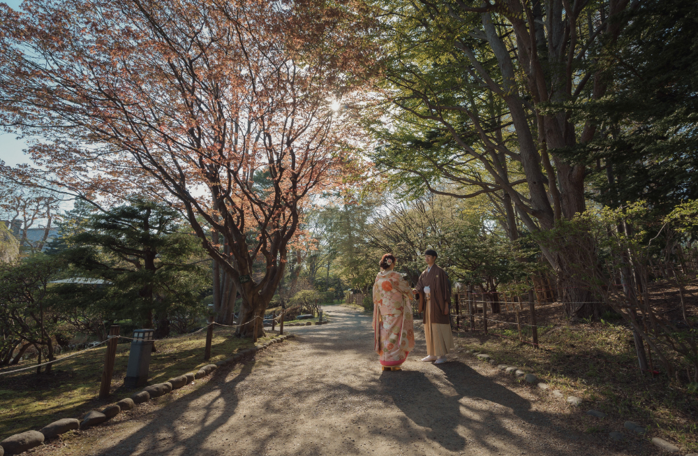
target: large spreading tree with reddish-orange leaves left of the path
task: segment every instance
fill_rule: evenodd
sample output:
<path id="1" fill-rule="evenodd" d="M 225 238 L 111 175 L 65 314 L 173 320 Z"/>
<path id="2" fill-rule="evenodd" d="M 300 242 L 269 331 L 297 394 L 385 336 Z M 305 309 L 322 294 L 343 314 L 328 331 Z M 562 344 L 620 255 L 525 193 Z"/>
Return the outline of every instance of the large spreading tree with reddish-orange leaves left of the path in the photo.
<path id="1" fill-rule="evenodd" d="M 369 15 L 312 1 L 22 8 L 0 5 L 0 122 L 43 138 L 30 153 L 47 182 L 181 210 L 242 294 L 240 321 L 255 321 L 304 201 L 350 175 L 352 141 L 331 102 L 365 67 L 357 31 Z"/>

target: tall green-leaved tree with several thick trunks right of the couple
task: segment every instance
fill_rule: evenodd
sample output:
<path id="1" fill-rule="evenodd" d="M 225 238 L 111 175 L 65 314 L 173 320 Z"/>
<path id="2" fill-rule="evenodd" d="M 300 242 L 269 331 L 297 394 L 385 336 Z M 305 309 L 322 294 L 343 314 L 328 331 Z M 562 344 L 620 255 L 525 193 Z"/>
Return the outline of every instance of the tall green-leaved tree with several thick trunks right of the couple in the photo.
<path id="1" fill-rule="evenodd" d="M 618 39 L 630 1 L 375 3 L 383 9 L 383 103 L 366 110 L 366 123 L 380 168 L 418 195 L 496 195 L 507 219 L 518 214 L 531 233 L 586 210 L 586 165 L 559 152 L 597 135 L 593 119 L 573 117 L 570 104 L 608 93 L 597 49 Z M 565 285 L 563 299 L 576 303 L 572 313 L 596 314 L 567 259 L 541 249 Z"/>

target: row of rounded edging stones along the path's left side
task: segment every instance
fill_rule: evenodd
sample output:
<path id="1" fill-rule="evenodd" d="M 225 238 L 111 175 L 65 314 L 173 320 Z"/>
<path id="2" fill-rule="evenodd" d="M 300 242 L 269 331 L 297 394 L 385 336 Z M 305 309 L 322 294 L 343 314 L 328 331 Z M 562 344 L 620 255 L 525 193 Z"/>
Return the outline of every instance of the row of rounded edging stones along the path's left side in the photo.
<path id="1" fill-rule="evenodd" d="M 172 392 L 173 390 L 178 390 L 184 385 L 188 385 L 195 379 L 211 374 L 211 372 L 214 372 L 214 370 L 218 369 L 218 367 L 223 367 L 225 365 L 238 362 L 239 360 L 246 358 L 248 355 L 253 355 L 258 351 L 267 348 L 269 345 L 279 344 L 289 337 L 295 337 L 295 334 L 275 337 L 265 344 L 246 348 L 239 353 L 235 353 L 235 355 L 231 356 L 230 358 L 218 361 L 215 364 L 205 365 L 197 372 L 189 372 L 188 374 L 184 374 L 179 377 L 170 378 L 170 380 L 166 381 L 165 383 L 147 386 L 143 388 L 141 392 L 137 392 L 131 397 L 121 399 L 115 405 L 107 406 L 102 411 L 92 410 L 87 412 L 82 417 L 82 420 L 77 420 L 77 418 L 64 418 L 62 420 L 52 422 L 50 425 L 43 427 L 40 431 L 27 431 L 22 432 L 21 434 L 9 436 L 7 439 L 0 442 L 0 456 L 19 455 L 20 453 L 24 453 L 24 451 L 41 445 L 45 439 L 57 437 L 73 429 L 87 429 L 88 427 L 98 425 L 101 422 L 109 420 L 110 418 L 114 418 L 114 416 L 121 413 L 122 410 L 131 410 L 136 406 L 136 404 L 142 404 L 143 402 L 148 402 L 150 399 L 166 395 L 168 392 Z"/>

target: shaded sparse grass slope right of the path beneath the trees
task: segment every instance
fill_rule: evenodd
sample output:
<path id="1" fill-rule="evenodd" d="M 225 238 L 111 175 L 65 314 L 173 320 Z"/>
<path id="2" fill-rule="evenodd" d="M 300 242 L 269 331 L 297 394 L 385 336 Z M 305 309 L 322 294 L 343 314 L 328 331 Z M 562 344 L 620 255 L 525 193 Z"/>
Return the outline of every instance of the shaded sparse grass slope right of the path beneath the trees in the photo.
<path id="1" fill-rule="evenodd" d="M 496 317 L 505 318 L 504 312 Z M 491 355 L 498 364 L 533 372 L 565 395 L 584 398 L 584 411 L 604 411 L 621 423 L 639 422 L 648 426 L 648 436 L 681 443 L 687 453 L 698 450 L 698 395 L 665 374 L 654 378 L 642 375 L 632 333 L 627 328 L 605 321 L 556 323 L 540 325 L 538 340 L 542 349 L 519 342 L 516 327 L 503 324 L 491 325 L 489 331 L 516 340 L 459 332 L 456 341 L 459 347 Z M 482 330 L 481 323 L 478 328 Z M 524 337 L 530 341 L 526 334 Z M 658 368 L 656 360 L 654 366 Z M 591 426 L 586 432 L 599 430 Z"/>

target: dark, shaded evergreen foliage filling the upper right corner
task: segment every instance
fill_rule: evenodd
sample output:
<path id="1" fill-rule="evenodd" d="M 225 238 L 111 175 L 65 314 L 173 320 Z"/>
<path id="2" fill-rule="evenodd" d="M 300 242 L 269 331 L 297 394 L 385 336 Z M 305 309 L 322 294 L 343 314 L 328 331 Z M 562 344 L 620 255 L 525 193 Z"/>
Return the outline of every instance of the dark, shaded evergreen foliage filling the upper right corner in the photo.
<path id="1" fill-rule="evenodd" d="M 600 203 L 645 200 L 668 214 L 698 198 L 698 4 L 642 1 L 624 19 L 600 51 L 607 95 L 571 104 L 600 134 L 566 155 L 589 166 Z"/>

